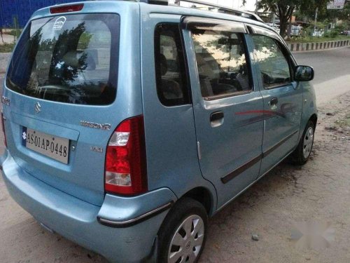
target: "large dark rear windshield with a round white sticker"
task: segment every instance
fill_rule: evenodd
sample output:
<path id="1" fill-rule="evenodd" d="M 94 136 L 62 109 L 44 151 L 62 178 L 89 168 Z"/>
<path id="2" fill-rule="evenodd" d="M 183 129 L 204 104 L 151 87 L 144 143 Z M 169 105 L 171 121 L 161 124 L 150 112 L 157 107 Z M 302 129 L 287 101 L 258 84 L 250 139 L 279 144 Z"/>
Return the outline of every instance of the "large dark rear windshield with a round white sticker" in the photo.
<path id="1" fill-rule="evenodd" d="M 116 99 L 120 18 L 65 15 L 33 20 L 13 53 L 6 86 L 43 100 L 105 105 Z"/>

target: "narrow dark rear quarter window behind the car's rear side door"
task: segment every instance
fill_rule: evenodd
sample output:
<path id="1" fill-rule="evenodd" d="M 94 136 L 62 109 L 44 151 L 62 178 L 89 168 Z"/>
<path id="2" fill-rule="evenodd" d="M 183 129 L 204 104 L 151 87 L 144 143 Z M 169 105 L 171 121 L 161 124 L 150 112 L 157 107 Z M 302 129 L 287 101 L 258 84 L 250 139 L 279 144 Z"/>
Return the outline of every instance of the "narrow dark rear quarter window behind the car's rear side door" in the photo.
<path id="1" fill-rule="evenodd" d="M 185 56 L 179 25 L 161 24 L 155 29 L 157 92 L 165 106 L 189 103 Z"/>

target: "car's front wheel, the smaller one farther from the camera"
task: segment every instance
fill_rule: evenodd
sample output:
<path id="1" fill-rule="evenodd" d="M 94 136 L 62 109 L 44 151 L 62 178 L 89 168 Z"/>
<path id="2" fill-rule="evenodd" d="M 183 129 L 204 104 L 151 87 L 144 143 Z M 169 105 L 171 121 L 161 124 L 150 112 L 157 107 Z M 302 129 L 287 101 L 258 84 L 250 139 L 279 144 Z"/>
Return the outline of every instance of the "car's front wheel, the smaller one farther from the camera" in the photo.
<path id="1" fill-rule="evenodd" d="M 312 121 L 307 123 L 307 126 L 302 133 L 297 149 L 293 151 L 292 163 L 297 166 L 303 166 L 309 161 L 312 147 L 314 146 L 315 124 Z"/>

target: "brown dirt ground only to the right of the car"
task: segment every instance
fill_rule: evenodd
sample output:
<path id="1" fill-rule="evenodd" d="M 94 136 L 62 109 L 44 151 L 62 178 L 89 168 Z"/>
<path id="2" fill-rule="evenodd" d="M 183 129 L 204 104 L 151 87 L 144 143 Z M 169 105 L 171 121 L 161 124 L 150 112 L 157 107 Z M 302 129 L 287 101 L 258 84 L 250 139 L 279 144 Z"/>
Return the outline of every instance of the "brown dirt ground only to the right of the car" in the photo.
<path id="1" fill-rule="evenodd" d="M 350 93 L 318 109 L 309 163 L 285 161 L 218 213 L 202 263 L 350 262 Z M 297 249 L 291 233 L 298 222 L 330 222 L 335 241 Z"/>

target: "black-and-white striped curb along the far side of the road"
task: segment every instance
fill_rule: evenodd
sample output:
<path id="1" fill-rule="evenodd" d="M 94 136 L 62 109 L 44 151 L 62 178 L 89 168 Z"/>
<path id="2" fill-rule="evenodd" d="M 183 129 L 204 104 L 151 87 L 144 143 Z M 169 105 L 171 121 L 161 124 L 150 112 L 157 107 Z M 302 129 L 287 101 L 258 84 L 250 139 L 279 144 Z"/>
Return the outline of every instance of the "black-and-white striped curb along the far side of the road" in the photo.
<path id="1" fill-rule="evenodd" d="M 350 46 L 350 40 L 326 41 L 314 43 L 287 43 L 290 51 L 311 51 L 311 50 L 328 50 L 332 48 L 340 48 Z"/>

